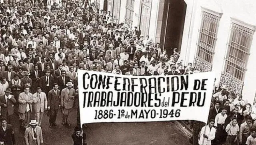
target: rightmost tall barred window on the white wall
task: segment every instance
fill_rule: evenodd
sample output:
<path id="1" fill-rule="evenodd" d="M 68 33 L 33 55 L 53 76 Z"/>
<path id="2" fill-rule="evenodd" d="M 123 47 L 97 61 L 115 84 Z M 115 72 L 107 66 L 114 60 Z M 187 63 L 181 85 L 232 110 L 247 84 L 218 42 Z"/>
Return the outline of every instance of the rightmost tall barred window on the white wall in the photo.
<path id="1" fill-rule="evenodd" d="M 253 26 L 232 19 L 224 71 L 242 81 L 246 71 L 254 30 Z"/>

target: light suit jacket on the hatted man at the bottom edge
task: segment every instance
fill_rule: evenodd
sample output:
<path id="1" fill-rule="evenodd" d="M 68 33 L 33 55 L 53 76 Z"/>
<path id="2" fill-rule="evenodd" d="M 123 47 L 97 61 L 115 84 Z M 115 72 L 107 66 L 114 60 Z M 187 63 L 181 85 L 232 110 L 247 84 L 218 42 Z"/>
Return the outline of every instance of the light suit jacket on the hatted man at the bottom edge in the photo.
<path id="1" fill-rule="evenodd" d="M 25 135 L 24 135 L 26 145 L 41 145 L 41 143 L 44 143 L 41 127 L 36 126 L 35 130 L 36 130 L 36 141 L 34 140 L 33 128 L 31 126 L 26 128 Z"/>

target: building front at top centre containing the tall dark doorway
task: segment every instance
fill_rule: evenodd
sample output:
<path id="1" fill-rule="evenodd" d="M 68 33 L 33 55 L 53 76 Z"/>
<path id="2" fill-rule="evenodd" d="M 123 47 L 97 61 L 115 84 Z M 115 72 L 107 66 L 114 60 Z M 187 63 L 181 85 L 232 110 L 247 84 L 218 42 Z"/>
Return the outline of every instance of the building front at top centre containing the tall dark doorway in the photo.
<path id="1" fill-rule="evenodd" d="M 137 27 L 144 37 L 160 42 L 172 54 L 181 48 L 186 2 L 184 0 L 95 0 L 100 10 L 110 11 L 118 23 Z"/>

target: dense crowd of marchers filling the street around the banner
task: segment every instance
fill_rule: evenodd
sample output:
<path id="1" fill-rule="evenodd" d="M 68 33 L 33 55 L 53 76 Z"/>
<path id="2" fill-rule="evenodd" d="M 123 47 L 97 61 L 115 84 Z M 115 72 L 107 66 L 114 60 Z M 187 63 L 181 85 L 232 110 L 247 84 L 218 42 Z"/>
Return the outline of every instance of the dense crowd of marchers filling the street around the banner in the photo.
<path id="1" fill-rule="evenodd" d="M 54 129 L 61 110 L 62 125 L 70 127 L 72 108 L 74 145 L 86 145 L 79 127 L 78 69 L 136 76 L 200 72 L 192 63 L 183 65 L 178 49 L 166 53 L 137 27 L 116 23 L 87 0 L 3 0 L 0 11 L 0 145 L 16 143 L 13 116 L 19 117 L 26 145 L 42 145 L 42 119 L 48 117 Z M 200 145 L 256 145 L 255 106 L 225 86 L 214 88 L 212 103 Z"/>

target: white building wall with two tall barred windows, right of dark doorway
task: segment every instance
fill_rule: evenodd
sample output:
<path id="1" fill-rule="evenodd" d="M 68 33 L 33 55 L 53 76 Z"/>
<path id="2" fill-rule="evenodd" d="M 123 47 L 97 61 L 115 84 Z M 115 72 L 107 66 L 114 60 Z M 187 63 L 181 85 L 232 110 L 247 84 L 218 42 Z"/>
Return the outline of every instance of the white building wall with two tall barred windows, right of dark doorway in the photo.
<path id="1" fill-rule="evenodd" d="M 185 65 L 215 72 L 216 82 L 254 103 L 256 1 L 186 0 L 181 44 Z"/>

